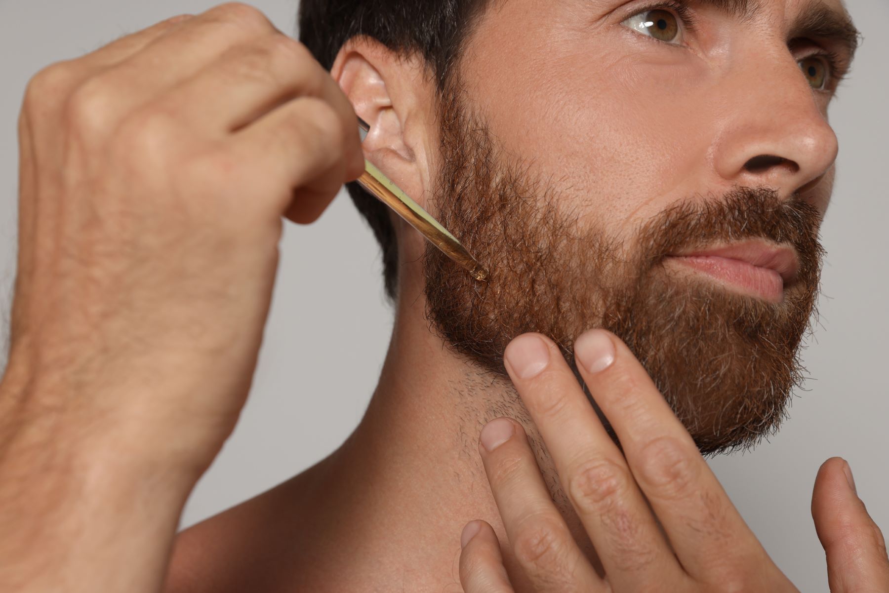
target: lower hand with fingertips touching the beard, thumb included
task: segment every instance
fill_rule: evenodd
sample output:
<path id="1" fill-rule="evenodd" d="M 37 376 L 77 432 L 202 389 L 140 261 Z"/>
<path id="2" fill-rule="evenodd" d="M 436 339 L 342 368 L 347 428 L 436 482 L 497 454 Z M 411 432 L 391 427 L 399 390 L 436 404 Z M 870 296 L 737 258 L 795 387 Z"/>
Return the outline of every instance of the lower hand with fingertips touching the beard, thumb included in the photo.
<path id="1" fill-rule="evenodd" d="M 536 333 L 517 337 L 506 349 L 506 369 L 596 549 L 600 571 L 553 504 L 521 425 L 501 418 L 482 430 L 479 452 L 517 569 L 504 567 L 491 525 L 472 521 L 461 536 L 466 593 L 797 591 L 626 345 L 592 330 L 578 338 L 574 354 L 622 454 L 552 341 Z M 840 458 L 826 461 L 813 493 L 830 590 L 889 591 L 883 535 L 847 470 Z"/>

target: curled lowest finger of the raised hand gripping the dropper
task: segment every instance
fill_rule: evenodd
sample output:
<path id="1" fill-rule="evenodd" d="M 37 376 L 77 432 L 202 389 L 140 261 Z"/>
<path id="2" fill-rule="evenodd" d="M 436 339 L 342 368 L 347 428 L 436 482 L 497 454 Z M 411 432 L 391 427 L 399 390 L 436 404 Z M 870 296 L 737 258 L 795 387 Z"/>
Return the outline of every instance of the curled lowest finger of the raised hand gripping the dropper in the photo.
<path id="1" fill-rule="evenodd" d="M 342 142 L 342 122 L 330 104 L 300 97 L 236 132 L 227 144 L 249 172 L 254 197 L 270 200 L 268 207 L 278 215 L 305 223 L 317 218 L 345 182 Z"/>

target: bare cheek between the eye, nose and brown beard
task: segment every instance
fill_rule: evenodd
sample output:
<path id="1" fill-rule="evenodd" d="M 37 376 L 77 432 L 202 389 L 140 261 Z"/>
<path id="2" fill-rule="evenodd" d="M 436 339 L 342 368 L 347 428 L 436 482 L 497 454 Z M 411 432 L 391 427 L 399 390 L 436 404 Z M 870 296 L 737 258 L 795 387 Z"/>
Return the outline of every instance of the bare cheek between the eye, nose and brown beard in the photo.
<path id="1" fill-rule="evenodd" d="M 715 124 L 708 73 L 690 56 L 603 37 L 501 47 L 509 60 L 477 77 L 476 96 L 501 145 L 560 204 L 621 234 L 701 192 Z"/>

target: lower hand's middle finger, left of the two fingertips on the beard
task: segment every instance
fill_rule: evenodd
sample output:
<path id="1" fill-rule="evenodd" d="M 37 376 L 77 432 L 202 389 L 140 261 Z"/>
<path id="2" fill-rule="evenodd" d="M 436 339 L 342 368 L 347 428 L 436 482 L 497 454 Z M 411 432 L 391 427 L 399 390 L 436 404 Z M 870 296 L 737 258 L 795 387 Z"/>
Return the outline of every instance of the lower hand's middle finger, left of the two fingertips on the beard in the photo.
<path id="1" fill-rule="evenodd" d="M 681 578 L 620 450 L 557 346 L 526 333 L 509 343 L 504 357 L 613 588 L 652 590 L 665 578 Z"/>

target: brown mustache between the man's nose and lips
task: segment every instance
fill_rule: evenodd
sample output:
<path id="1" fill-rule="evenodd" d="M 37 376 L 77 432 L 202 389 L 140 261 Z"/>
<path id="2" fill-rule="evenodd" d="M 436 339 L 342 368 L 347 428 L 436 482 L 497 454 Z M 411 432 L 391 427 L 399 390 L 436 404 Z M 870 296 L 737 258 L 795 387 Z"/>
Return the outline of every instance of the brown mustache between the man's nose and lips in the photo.
<path id="1" fill-rule="evenodd" d="M 772 188 L 737 187 L 719 198 L 674 204 L 638 230 L 647 267 L 672 252 L 762 238 L 791 244 L 799 258 L 798 279 L 809 282 L 821 270 L 825 251 L 821 212 L 797 194 L 781 198 Z"/>

